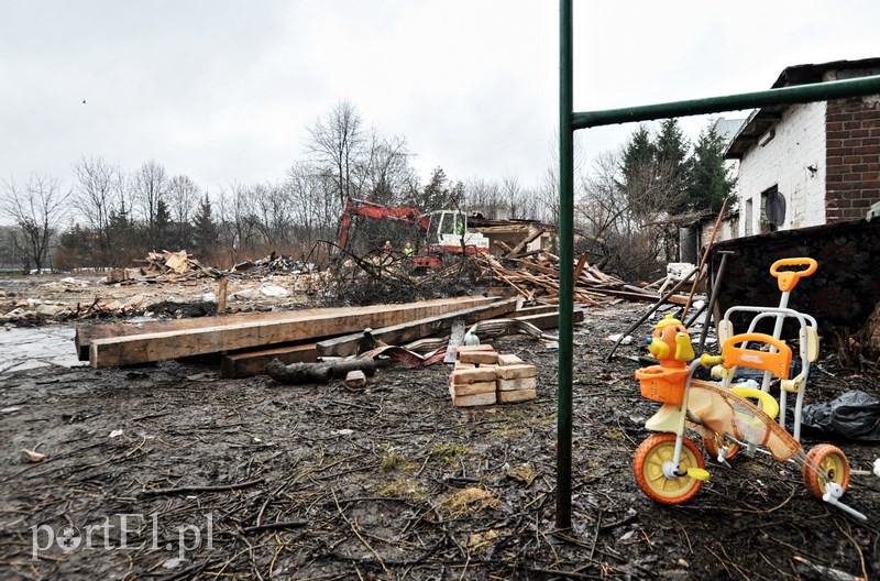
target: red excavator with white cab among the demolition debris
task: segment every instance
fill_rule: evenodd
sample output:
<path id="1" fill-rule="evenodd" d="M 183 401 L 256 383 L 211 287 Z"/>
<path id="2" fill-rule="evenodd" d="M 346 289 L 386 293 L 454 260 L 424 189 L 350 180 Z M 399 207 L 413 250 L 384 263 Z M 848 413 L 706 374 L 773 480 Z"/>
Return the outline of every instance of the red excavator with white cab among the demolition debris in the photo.
<path id="1" fill-rule="evenodd" d="M 349 198 L 342 210 L 339 245 L 345 248 L 349 242 L 349 229 L 354 216 L 364 216 L 377 220 L 396 220 L 407 224 L 417 224 L 426 231 L 425 245 L 410 257 L 416 267 L 436 267 L 442 263 L 443 256 L 488 253 L 488 239 L 480 232 L 468 230 L 468 217 L 455 210 L 437 210 L 422 213 L 417 208 L 387 207 L 372 201 Z"/>

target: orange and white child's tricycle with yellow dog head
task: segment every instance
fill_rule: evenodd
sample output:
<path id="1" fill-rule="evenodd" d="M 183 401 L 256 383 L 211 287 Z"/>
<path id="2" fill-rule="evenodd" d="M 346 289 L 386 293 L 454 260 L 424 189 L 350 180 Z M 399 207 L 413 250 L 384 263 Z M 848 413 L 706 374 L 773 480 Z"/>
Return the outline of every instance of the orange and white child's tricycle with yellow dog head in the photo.
<path id="1" fill-rule="evenodd" d="M 681 321 L 670 315 L 654 328 L 648 349 L 659 364 L 637 370 L 636 379 L 644 397 L 663 405 L 645 424 L 647 429 L 657 434 L 649 436 L 638 447 L 632 462 L 636 482 L 650 498 L 663 504 L 684 503 L 708 479 L 703 454 L 692 440 L 684 437 L 684 428 L 691 427 L 702 434 L 706 450 L 717 456 L 719 462 L 727 463 L 740 447 L 767 453 L 777 461 L 794 462 L 801 468 L 804 484 L 811 494 L 860 520 L 867 520 L 864 514 L 840 502 L 849 484 L 849 463 L 844 452 L 828 443 L 821 443 L 806 452 L 799 441 L 803 386 L 809 362 L 815 361 L 818 343 L 817 339 L 811 338 L 811 332 L 817 337 L 815 319 L 789 309 L 788 293 L 798 278 L 815 271 L 815 261 L 812 261 L 812 270 L 800 272 L 779 271 L 779 266 L 799 265 L 804 261 L 812 259 L 789 259 L 774 263 L 771 273 L 780 278 L 783 298 L 777 308 L 755 310 L 760 313 L 756 319 L 777 317 L 777 337 L 755 332 L 755 321 L 748 332 L 733 335 L 729 315 L 734 309 L 729 309 L 725 315 L 726 322 L 723 322 L 726 333 L 722 333 L 722 354 L 703 354 L 694 359 L 688 329 Z M 736 309 L 751 310 L 752 307 Z M 785 317 L 794 317 L 801 324 L 802 333 L 799 352 L 802 368 L 799 375 L 791 380 L 792 350 L 779 339 Z M 749 343 L 767 344 L 769 351 L 749 348 Z M 693 371 L 701 364 L 712 368 L 713 375 L 722 377 L 723 383 L 695 380 Z M 763 370 L 763 388 L 730 386 L 737 366 Z M 776 421 L 780 404 L 767 391 L 772 376 L 782 382 L 783 406 L 787 391 L 799 393 L 794 420 L 796 436 L 785 430 L 784 418 L 779 424 Z M 758 405 L 750 399 L 756 399 Z"/>

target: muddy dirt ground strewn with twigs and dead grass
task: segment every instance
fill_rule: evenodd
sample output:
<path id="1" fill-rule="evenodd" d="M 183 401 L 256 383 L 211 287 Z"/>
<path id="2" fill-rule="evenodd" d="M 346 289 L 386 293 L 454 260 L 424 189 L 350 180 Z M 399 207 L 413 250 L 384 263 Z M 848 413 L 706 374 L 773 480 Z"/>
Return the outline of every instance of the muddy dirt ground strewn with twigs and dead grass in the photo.
<path id="1" fill-rule="evenodd" d="M 359 391 L 218 380 L 210 358 L 7 373 L 0 578 L 880 578 L 872 475 L 854 474 L 844 497 L 867 524 L 811 496 L 793 464 L 762 456 L 732 468 L 707 458 L 712 478 L 680 506 L 640 491 L 634 452 L 659 404 L 632 379 L 641 341 L 605 362 L 605 337 L 647 308 L 593 307 L 575 329 L 565 531 L 554 527 L 558 351 L 525 336 L 495 347 L 539 366 L 539 398 L 479 408 L 451 405 L 442 365 L 383 365 Z M 828 357 L 818 368 L 809 402 L 880 395 L 876 379 Z M 832 442 L 854 470 L 878 457 Z M 25 462 L 22 449 L 46 456 Z"/>

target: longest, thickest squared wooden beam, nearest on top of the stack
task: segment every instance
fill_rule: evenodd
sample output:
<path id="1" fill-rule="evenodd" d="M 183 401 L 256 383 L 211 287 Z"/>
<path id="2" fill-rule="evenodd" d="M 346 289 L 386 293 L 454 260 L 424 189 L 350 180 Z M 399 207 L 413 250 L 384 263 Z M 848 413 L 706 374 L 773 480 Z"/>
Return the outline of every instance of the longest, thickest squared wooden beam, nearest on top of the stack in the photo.
<path id="1" fill-rule="evenodd" d="M 205 317 L 200 319 L 201 327 L 95 339 L 89 344 L 89 362 L 92 368 L 108 368 L 293 343 L 437 317 L 494 300 L 493 297 L 464 297 L 405 305 L 279 311 L 265 314 L 274 316 L 265 319 Z"/>

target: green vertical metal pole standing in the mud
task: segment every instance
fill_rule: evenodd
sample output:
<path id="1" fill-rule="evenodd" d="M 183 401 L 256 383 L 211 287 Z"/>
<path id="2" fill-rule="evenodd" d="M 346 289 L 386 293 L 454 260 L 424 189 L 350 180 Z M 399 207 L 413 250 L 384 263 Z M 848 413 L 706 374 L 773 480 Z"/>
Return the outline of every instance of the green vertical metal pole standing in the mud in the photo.
<path id="1" fill-rule="evenodd" d="M 557 528 L 571 528 L 572 328 L 574 311 L 574 129 L 572 8 L 559 2 L 559 391 L 557 395 Z"/>

